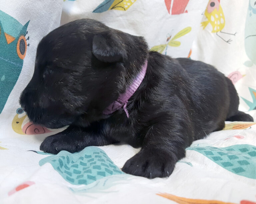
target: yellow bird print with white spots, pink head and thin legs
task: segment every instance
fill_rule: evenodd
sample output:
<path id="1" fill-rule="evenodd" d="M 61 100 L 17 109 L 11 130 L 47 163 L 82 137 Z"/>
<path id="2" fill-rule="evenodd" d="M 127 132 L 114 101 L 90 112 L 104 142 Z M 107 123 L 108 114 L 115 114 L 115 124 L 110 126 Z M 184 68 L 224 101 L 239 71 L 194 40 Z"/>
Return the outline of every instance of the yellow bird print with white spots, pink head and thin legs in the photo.
<path id="1" fill-rule="evenodd" d="M 232 41 L 231 39 L 225 40 L 218 34 L 218 32 L 220 32 L 228 35 L 236 35 L 236 33 L 231 34 L 222 32 L 222 29 L 225 27 L 225 16 L 220 5 L 220 0 L 210 0 L 208 2 L 204 15 L 206 16 L 207 21 L 201 23 L 203 29 L 205 29 L 206 26 L 210 23 L 212 26 L 211 32 L 216 33 L 216 35 L 220 37 L 223 41 L 230 44 L 230 42 Z"/>

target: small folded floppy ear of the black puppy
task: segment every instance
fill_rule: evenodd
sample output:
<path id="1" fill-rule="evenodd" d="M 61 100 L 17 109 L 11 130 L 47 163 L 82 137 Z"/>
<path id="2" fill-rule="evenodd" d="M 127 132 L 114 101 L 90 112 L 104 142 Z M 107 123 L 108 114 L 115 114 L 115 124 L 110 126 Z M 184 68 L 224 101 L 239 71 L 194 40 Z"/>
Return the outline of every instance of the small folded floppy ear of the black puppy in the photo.
<path id="1" fill-rule="evenodd" d="M 109 31 L 96 34 L 92 41 L 92 52 L 100 61 L 119 62 L 127 57 L 121 40 Z"/>

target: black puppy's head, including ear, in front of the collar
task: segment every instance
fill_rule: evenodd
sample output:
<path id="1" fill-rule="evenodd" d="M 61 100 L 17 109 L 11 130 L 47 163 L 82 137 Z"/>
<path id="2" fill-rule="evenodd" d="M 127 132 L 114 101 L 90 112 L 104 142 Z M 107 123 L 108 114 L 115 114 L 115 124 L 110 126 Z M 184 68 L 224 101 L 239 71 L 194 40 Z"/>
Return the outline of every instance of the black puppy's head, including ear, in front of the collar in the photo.
<path id="1" fill-rule="evenodd" d="M 29 119 L 48 128 L 87 126 L 123 93 L 147 57 L 143 38 L 90 19 L 65 24 L 38 45 L 20 96 Z"/>

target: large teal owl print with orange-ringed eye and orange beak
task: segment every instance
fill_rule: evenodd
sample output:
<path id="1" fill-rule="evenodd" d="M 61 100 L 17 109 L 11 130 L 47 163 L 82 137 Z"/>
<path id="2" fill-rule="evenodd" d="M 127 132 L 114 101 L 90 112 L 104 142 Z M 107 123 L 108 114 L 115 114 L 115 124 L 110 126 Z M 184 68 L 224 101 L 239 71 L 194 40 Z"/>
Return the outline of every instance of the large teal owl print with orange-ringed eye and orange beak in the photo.
<path id="1" fill-rule="evenodd" d="M 26 56 L 27 27 L 0 10 L 0 113 L 16 84 Z"/>

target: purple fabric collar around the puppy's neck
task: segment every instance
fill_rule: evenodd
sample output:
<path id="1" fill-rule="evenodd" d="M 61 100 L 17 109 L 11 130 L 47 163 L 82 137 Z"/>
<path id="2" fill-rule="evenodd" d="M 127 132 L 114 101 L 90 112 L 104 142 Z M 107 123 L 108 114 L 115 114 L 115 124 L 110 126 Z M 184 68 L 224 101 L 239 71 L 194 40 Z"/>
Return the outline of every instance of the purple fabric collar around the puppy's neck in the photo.
<path id="1" fill-rule="evenodd" d="M 114 113 L 117 110 L 120 110 L 122 107 L 127 115 L 127 118 L 129 118 L 129 113 L 126 109 L 128 100 L 132 97 L 132 95 L 135 93 L 135 91 L 139 88 L 142 80 L 145 77 L 146 70 L 147 70 L 148 60 L 145 61 L 145 64 L 142 66 L 142 69 L 139 73 L 139 75 L 134 79 L 132 85 L 128 87 L 128 89 L 119 95 L 116 101 L 111 103 L 104 111 L 103 114 L 110 115 Z"/>

